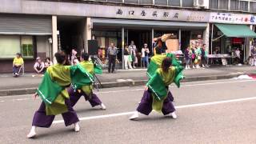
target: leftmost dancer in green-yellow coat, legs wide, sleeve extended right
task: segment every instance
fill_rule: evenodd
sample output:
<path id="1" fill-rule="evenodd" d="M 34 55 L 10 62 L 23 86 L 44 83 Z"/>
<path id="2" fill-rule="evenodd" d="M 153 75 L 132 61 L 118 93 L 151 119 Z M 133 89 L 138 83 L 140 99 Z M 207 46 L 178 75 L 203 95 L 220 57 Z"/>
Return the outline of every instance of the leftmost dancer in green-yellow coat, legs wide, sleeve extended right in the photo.
<path id="1" fill-rule="evenodd" d="M 79 131 L 78 116 L 70 104 L 70 97 L 66 87 L 70 83 L 77 85 L 90 85 L 94 77 L 84 70 L 81 65 L 63 66 L 66 54 L 62 51 L 54 54 L 58 64 L 48 67 L 34 98 L 42 98 L 39 109 L 35 112 L 32 128 L 27 138 L 34 138 L 36 127 L 50 127 L 57 114 L 62 114 L 65 125 L 74 124 L 74 130 Z"/>

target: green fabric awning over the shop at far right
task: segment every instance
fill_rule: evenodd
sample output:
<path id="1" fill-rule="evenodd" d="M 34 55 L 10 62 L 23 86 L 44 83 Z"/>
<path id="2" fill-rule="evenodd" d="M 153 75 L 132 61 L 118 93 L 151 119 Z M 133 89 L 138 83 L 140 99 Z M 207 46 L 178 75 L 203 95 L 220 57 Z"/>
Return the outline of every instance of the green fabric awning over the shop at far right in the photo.
<path id="1" fill-rule="evenodd" d="M 215 24 L 215 26 L 217 26 L 226 37 L 256 38 L 256 33 L 254 33 L 253 30 L 250 30 L 250 27 L 246 25 Z"/>

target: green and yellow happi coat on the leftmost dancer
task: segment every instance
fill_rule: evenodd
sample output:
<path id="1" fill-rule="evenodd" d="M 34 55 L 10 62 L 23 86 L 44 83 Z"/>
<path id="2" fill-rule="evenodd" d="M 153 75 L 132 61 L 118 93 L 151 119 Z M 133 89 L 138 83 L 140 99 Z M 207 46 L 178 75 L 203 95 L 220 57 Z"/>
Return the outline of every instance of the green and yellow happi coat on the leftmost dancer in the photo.
<path id="1" fill-rule="evenodd" d="M 47 68 L 46 74 L 38 87 L 37 94 L 46 104 L 46 115 L 57 115 L 67 112 L 65 99 L 69 98 L 66 87 L 73 83 L 75 88 L 91 85 L 94 82 L 92 74 L 80 64 L 63 66 L 56 64 Z"/>

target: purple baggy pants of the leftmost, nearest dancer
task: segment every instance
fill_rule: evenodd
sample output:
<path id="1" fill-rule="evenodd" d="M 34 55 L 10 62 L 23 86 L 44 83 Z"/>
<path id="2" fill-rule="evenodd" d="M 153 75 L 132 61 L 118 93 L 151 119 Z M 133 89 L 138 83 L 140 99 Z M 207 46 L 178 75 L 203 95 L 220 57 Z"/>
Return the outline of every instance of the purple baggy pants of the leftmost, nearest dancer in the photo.
<path id="1" fill-rule="evenodd" d="M 62 114 L 62 118 L 64 119 L 65 126 L 70 126 L 75 122 L 79 122 L 78 115 L 73 110 L 70 100 L 65 100 L 68 111 Z M 38 127 L 50 127 L 51 123 L 54 121 L 55 115 L 46 115 L 46 105 L 44 102 L 41 103 L 38 111 L 34 113 L 34 118 L 32 122 L 32 126 Z"/>

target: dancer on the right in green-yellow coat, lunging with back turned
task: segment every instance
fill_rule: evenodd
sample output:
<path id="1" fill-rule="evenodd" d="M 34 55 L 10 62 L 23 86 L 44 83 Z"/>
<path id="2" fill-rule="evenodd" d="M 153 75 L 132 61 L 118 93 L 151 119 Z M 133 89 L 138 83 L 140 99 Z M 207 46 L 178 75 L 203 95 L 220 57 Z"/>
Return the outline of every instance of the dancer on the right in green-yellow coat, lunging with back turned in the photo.
<path id="1" fill-rule="evenodd" d="M 162 62 L 158 61 L 161 62 L 159 68 L 155 65 L 155 71 L 148 70 L 148 72 L 150 71 L 150 79 L 146 83 L 146 88 L 137 111 L 130 117 L 130 120 L 138 119 L 139 113 L 148 115 L 152 110 L 156 110 L 164 115 L 170 115 L 172 118 L 177 118 L 174 112 L 174 97 L 169 91 L 169 85 L 174 82 L 178 87 L 180 86 L 179 81 L 183 78 L 183 66 L 179 66 L 174 55 L 173 58 L 172 56 L 164 55 L 159 56 L 160 58 L 162 58 Z"/>

